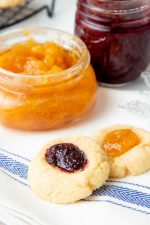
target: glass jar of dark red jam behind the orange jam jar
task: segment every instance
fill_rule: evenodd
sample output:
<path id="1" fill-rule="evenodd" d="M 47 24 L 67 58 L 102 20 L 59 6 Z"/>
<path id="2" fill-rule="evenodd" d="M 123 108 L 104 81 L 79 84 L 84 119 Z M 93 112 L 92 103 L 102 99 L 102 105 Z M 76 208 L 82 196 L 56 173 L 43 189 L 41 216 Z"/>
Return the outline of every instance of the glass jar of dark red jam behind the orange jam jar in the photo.
<path id="1" fill-rule="evenodd" d="M 78 0 L 75 33 L 91 53 L 99 82 L 127 84 L 150 62 L 150 1 Z"/>

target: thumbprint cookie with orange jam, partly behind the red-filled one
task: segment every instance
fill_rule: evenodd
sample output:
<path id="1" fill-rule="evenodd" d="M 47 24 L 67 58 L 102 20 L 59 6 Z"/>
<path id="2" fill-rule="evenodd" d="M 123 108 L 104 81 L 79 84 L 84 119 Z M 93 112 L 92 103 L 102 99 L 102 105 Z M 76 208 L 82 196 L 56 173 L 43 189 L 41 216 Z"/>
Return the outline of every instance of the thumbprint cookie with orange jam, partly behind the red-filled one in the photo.
<path id="1" fill-rule="evenodd" d="M 138 175 L 150 169 L 150 133 L 140 128 L 115 125 L 95 132 L 92 137 L 105 150 L 110 177 Z"/>

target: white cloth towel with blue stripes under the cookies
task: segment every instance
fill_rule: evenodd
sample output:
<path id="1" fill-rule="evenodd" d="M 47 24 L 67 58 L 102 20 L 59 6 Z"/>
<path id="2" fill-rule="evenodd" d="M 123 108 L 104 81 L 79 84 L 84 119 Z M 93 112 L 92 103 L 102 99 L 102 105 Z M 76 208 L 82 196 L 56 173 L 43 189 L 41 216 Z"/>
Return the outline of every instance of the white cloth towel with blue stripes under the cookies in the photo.
<path id="1" fill-rule="evenodd" d="M 150 172 L 111 179 L 88 199 L 71 205 L 42 201 L 27 183 L 30 160 L 48 140 L 67 134 L 88 135 L 116 123 L 150 130 L 149 118 L 150 92 L 100 88 L 93 112 L 72 126 L 49 132 L 21 132 L 0 127 L 0 224 L 149 225 Z"/>

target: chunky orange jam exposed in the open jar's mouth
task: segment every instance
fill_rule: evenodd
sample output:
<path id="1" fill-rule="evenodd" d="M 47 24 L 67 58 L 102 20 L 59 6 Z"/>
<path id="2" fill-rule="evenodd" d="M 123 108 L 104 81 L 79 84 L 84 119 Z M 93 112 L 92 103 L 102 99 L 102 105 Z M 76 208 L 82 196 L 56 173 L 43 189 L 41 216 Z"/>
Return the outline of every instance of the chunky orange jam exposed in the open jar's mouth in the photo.
<path id="1" fill-rule="evenodd" d="M 32 39 L 0 53 L 1 68 L 26 75 L 58 73 L 72 67 L 77 60 L 74 52 L 54 42 L 39 44 Z"/>

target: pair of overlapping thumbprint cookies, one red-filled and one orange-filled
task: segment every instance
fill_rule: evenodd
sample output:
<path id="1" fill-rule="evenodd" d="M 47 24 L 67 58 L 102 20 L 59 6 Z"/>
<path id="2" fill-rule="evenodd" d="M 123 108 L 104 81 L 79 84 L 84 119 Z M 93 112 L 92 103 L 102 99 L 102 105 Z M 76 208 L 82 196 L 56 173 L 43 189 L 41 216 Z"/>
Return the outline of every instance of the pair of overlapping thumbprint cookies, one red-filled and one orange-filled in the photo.
<path id="1" fill-rule="evenodd" d="M 50 141 L 31 162 L 33 192 L 54 203 L 90 196 L 109 177 L 138 175 L 150 169 L 150 133 L 116 125 L 87 136 Z"/>

